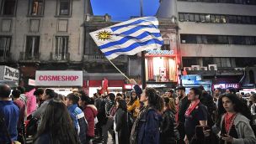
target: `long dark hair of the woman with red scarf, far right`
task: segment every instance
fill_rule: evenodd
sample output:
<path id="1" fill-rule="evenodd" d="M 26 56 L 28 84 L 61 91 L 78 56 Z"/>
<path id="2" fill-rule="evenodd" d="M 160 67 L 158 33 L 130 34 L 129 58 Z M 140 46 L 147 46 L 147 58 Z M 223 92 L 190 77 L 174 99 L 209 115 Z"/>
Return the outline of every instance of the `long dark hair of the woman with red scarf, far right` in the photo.
<path id="1" fill-rule="evenodd" d="M 236 94 L 224 94 L 221 95 L 221 97 L 219 98 L 218 101 L 218 116 L 219 118 L 226 113 L 223 104 L 222 104 L 222 98 L 223 97 L 227 97 L 229 100 L 232 101 L 232 103 L 234 104 L 234 111 L 241 113 L 243 116 L 246 116 L 250 121 L 252 120 L 252 115 L 250 110 L 248 109 L 248 106 L 243 103 L 243 101 L 237 97 Z"/>

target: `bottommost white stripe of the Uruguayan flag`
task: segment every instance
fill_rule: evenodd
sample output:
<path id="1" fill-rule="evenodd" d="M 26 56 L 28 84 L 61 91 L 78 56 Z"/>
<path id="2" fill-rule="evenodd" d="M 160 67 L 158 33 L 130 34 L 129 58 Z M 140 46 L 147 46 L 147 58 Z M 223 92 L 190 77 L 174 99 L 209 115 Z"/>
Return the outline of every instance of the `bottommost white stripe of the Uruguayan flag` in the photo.
<path id="1" fill-rule="evenodd" d="M 128 52 L 117 52 L 117 53 L 106 56 L 106 58 L 107 59 L 115 59 L 116 57 L 118 57 L 121 54 L 134 55 L 134 54 L 137 54 L 137 53 L 139 53 L 143 50 L 147 50 L 147 49 L 159 49 L 159 48 L 161 48 L 161 46 L 162 45 L 159 45 L 159 44 L 149 44 L 149 45 L 137 47 L 136 49 L 132 49 L 131 51 L 128 51 Z"/>

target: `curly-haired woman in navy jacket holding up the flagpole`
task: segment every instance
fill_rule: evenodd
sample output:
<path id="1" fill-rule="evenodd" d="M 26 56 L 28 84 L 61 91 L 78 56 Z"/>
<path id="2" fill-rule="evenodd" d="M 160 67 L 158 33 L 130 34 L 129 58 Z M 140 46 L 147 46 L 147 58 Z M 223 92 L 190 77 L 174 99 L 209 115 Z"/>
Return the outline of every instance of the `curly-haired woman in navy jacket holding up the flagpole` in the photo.
<path id="1" fill-rule="evenodd" d="M 136 81 L 131 79 L 131 84 Z M 131 129 L 131 144 L 159 144 L 159 127 L 161 112 L 163 111 L 163 99 L 157 95 L 157 90 L 146 88 L 142 91 L 140 101 L 143 107 L 137 116 Z"/>

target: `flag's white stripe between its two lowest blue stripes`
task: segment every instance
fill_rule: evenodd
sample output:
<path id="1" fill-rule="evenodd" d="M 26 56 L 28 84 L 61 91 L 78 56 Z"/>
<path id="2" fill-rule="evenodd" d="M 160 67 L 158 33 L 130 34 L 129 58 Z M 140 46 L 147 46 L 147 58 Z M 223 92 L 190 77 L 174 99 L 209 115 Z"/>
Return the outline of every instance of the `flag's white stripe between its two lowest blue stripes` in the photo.
<path id="1" fill-rule="evenodd" d="M 111 51 L 111 50 L 114 50 L 114 49 L 120 49 L 120 48 L 126 48 L 128 46 L 130 46 L 131 44 L 134 44 L 134 43 L 142 43 L 142 42 L 146 42 L 147 40 L 150 40 L 150 39 L 158 39 L 160 41 L 163 41 L 162 37 L 152 37 L 152 35 L 149 35 L 143 39 L 131 39 L 131 40 L 128 40 L 127 42 L 125 42 L 124 44 L 116 44 L 114 46 L 111 46 L 109 48 L 105 48 L 105 49 L 100 49 L 103 53 L 105 52 L 108 52 L 108 51 Z"/>

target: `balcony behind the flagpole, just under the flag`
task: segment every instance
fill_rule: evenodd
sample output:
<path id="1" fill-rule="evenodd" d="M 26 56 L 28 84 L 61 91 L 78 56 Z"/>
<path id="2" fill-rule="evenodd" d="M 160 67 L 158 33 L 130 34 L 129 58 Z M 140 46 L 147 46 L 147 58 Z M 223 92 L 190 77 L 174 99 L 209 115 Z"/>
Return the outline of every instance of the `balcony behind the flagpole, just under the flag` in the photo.
<path id="1" fill-rule="evenodd" d="M 127 56 L 120 55 L 117 58 L 112 59 L 111 61 L 115 62 L 115 63 L 127 63 L 128 59 L 127 59 Z M 83 62 L 89 62 L 89 63 L 109 63 L 109 60 L 106 59 L 106 57 L 104 55 L 90 54 L 90 55 L 83 55 Z"/>

